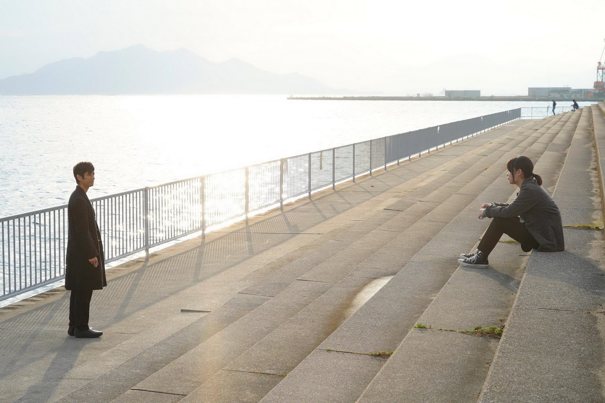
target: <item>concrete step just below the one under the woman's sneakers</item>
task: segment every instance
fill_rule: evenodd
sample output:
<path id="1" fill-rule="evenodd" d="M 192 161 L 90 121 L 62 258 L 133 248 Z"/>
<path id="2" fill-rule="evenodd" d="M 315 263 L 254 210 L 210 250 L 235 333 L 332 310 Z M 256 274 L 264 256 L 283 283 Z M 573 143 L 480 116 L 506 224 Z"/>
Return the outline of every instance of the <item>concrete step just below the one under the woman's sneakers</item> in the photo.
<path id="1" fill-rule="evenodd" d="M 508 158 L 510 158 L 509 155 L 502 158 L 500 165 L 503 166 Z M 501 175 L 501 173 L 502 167 L 499 169 L 499 174 Z M 492 179 L 493 181 L 494 179 Z M 473 196 L 474 198 L 475 196 Z M 472 206 L 471 209 L 476 210 Z M 466 217 L 463 219 L 467 220 Z M 440 235 L 442 233 L 446 234 L 445 237 L 451 237 L 451 231 L 444 229 Z M 425 248 L 430 250 L 431 243 L 439 245 L 442 242 L 443 239 L 431 240 Z M 443 258 L 443 256 L 441 257 Z M 431 294 L 436 293 L 449 278 L 453 269 L 449 268 L 451 263 L 446 263 L 448 260 L 456 262 L 448 256 L 441 260 L 430 253 L 423 256 L 420 251 L 414 256 L 412 262 L 408 263 L 350 320 L 327 338 L 263 401 L 286 401 L 286 399 L 292 399 L 292 401 L 350 401 L 353 396 L 357 398 L 363 387 L 382 365 L 380 358 L 369 356 L 368 353 L 393 350 L 396 347 L 405 335 L 405 331 L 422 312 L 422 309 L 419 312 L 410 309 L 410 306 L 417 305 L 413 301 L 424 298 L 427 300 L 424 306 L 428 305 Z M 432 262 L 434 267 L 439 268 L 439 271 L 430 277 L 427 276 L 425 270 L 427 262 Z M 455 267 L 456 265 L 454 265 Z M 434 287 L 435 283 L 436 287 Z M 409 323 L 405 323 L 405 326 L 402 326 L 402 316 L 410 317 L 408 318 Z M 397 329 L 397 331 L 391 332 L 391 329 Z M 390 338 L 385 337 L 385 334 L 390 335 Z M 327 349 L 336 351 L 326 352 Z M 335 379 L 344 382 L 346 386 L 333 388 Z M 309 390 L 311 387 L 316 390 L 317 395 L 306 396 L 297 393 L 301 390 Z"/>

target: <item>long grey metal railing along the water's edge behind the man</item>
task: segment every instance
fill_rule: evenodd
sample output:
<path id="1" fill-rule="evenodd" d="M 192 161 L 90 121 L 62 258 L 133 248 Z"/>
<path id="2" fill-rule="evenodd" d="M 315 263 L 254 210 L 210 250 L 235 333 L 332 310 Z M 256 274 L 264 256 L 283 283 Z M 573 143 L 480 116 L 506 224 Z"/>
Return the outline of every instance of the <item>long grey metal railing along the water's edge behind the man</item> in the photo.
<path id="1" fill-rule="evenodd" d="M 92 199 L 107 263 L 521 117 L 521 109 Z M 67 205 L 0 219 L 0 300 L 65 275 Z"/>

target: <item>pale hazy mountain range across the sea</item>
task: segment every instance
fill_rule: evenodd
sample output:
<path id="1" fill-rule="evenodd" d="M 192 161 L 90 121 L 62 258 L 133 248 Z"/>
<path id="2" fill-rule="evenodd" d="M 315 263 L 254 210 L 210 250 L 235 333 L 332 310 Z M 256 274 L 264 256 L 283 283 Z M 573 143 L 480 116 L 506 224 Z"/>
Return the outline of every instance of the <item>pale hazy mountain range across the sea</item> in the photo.
<path id="1" fill-rule="evenodd" d="M 143 45 L 74 57 L 0 80 L 0 94 L 351 94 L 302 74 L 276 74 L 239 59 L 213 63 L 180 48 Z"/>

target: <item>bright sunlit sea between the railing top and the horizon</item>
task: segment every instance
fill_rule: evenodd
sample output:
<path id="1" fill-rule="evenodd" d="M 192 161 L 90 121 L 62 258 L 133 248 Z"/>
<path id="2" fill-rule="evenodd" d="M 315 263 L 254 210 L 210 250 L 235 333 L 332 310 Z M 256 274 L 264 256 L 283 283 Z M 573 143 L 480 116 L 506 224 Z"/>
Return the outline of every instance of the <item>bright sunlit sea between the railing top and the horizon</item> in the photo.
<path id="1" fill-rule="evenodd" d="M 79 161 L 94 198 L 529 106 L 548 103 L 0 96 L 0 217 L 65 204 Z"/>

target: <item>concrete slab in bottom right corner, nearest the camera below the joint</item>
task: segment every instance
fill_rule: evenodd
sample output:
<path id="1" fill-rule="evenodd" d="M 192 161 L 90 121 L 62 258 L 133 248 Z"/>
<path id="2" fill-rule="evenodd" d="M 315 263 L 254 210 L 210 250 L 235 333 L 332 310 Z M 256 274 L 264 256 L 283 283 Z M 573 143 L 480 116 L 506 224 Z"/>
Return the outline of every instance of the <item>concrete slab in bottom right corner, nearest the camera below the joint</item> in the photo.
<path id="1" fill-rule="evenodd" d="M 519 307 L 507 326 L 481 402 L 605 401 L 603 314 Z"/>

